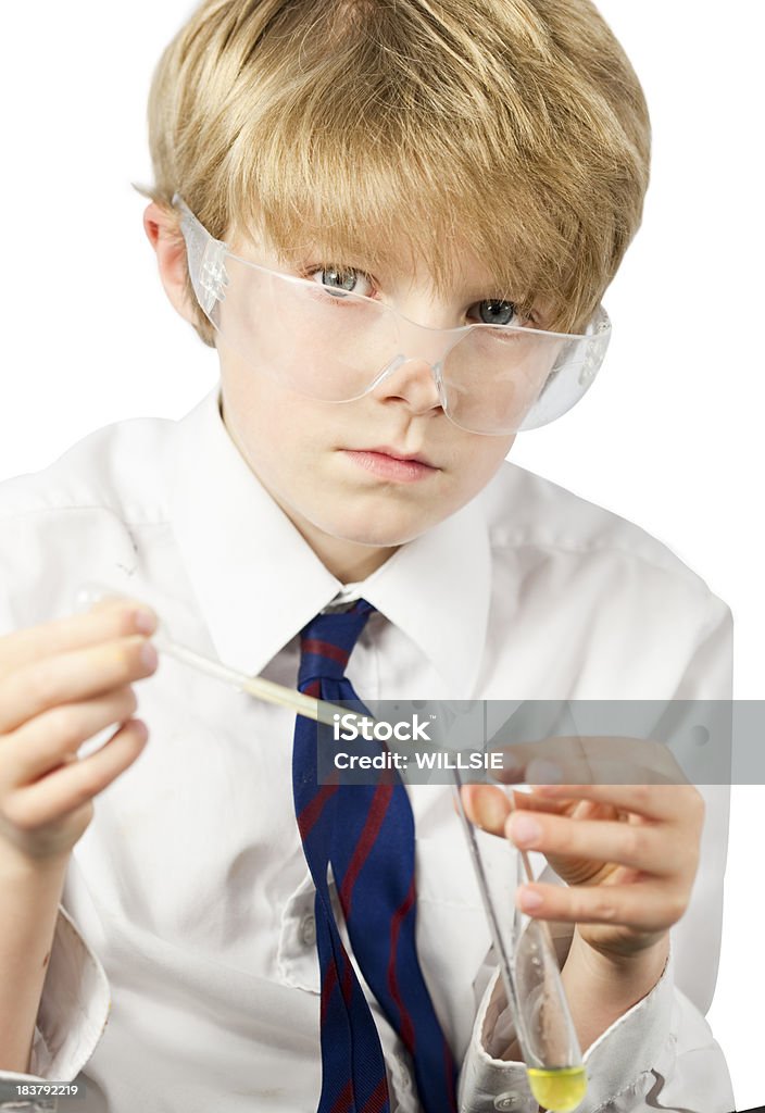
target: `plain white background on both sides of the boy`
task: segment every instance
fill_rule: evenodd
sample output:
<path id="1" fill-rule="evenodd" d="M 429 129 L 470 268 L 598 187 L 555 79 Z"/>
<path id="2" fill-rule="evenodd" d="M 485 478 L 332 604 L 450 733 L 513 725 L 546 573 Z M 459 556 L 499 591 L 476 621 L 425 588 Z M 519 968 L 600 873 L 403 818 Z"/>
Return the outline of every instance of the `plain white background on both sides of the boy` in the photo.
<path id="1" fill-rule="evenodd" d="M 600 9 L 646 89 L 653 185 L 606 299 L 606 368 L 514 459 L 639 523 L 703 575 L 736 620 L 736 695 L 762 699 L 762 8 Z M 213 355 L 165 302 L 130 188 L 150 177 L 150 73 L 189 10 L 48 0 L 3 11 L 0 479 L 109 422 L 181 416 L 215 382 Z M 764 806 L 765 789 L 734 788 L 711 1014 L 738 1109 L 765 1102 Z"/>

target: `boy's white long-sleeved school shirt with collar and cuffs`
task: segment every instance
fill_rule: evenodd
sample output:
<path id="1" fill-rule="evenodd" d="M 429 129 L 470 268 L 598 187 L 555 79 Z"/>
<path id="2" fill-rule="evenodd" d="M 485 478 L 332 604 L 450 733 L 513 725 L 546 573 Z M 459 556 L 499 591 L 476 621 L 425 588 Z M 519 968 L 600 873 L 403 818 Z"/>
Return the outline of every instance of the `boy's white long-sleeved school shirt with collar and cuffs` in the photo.
<path id="1" fill-rule="evenodd" d="M 180 422 L 110 425 L 0 484 L 0 633 L 70 614 L 86 581 L 146 600 L 177 641 L 292 687 L 299 631 L 342 587 L 239 454 L 218 387 Z M 731 695 L 729 612 L 704 582 L 638 528 L 510 463 L 360 590 L 377 608 L 347 670 L 362 700 Z M 0 1080 L 85 1082 L 61 1113 L 311 1113 L 319 971 L 294 716 L 170 658 L 137 692 L 149 742 L 96 799 L 30 1074 Z M 523 1065 L 485 1050 L 496 973 L 449 789 L 409 791 L 418 949 L 461 1064 L 460 1110 L 536 1110 Z M 586 1050 L 582 1113 L 734 1109 L 703 1015 L 728 792 L 703 791 L 691 908 L 659 983 Z M 372 1007 L 391 1111 L 415 1113 L 406 1055 Z"/>

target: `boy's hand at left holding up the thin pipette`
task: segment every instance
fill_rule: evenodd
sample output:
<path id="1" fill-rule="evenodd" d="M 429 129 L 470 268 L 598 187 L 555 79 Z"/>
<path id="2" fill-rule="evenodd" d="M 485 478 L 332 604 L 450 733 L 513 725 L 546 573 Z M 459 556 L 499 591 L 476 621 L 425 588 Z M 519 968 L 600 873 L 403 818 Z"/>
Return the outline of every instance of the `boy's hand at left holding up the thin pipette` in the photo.
<path id="1" fill-rule="evenodd" d="M 39 864 L 67 857 L 93 797 L 142 751 L 148 730 L 132 718 L 130 686 L 157 668 L 147 637 L 156 628 L 150 609 L 112 598 L 0 638 L 0 851 Z M 112 723 L 113 737 L 78 760 L 79 747 Z"/>

